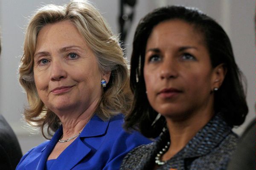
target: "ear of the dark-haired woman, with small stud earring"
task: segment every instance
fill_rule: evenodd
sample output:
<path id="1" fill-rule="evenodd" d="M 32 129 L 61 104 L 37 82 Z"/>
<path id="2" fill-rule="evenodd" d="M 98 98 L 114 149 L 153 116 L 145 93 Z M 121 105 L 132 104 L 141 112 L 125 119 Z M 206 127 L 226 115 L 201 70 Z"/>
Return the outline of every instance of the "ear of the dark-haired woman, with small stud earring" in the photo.
<path id="1" fill-rule="evenodd" d="M 222 85 L 222 82 L 224 81 L 224 78 L 227 73 L 227 68 L 225 65 L 222 63 L 218 66 L 216 66 L 213 69 L 212 72 L 212 87 L 211 90 L 213 91 L 214 88 L 220 88 Z"/>

